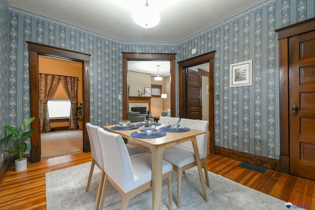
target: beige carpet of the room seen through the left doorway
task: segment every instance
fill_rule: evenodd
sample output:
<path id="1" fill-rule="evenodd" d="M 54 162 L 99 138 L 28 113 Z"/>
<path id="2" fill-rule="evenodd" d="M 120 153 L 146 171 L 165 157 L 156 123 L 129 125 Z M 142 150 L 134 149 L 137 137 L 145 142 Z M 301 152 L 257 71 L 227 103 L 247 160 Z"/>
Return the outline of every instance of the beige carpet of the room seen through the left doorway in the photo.
<path id="1" fill-rule="evenodd" d="M 41 158 L 62 156 L 83 150 L 82 130 L 41 133 Z"/>

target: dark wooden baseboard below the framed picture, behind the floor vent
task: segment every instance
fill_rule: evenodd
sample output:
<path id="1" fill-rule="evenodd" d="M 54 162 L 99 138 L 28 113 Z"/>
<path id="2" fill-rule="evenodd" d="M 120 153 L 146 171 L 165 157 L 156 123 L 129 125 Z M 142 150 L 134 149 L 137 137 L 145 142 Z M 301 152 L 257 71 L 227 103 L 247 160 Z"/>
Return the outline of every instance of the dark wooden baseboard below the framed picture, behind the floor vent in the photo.
<path id="1" fill-rule="evenodd" d="M 239 160 L 242 162 L 251 163 L 253 165 L 261 166 L 274 171 L 280 171 L 279 160 L 269 157 L 263 157 L 256 154 L 251 154 L 247 152 L 231 150 L 227 148 L 222 148 L 215 146 L 215 154 L 228 157 L 231 159 Z"/>

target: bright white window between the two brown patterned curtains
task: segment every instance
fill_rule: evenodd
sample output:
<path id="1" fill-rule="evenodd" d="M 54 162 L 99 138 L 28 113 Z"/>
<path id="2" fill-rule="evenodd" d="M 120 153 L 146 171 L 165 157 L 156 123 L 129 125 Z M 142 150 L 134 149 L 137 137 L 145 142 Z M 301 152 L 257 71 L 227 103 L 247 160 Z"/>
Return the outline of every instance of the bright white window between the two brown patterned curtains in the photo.
<path id="1" fill-rule="evenodd" d="M 67 119 L 70 117 L 70 100 L 48 100 L 49 119 Z"/>

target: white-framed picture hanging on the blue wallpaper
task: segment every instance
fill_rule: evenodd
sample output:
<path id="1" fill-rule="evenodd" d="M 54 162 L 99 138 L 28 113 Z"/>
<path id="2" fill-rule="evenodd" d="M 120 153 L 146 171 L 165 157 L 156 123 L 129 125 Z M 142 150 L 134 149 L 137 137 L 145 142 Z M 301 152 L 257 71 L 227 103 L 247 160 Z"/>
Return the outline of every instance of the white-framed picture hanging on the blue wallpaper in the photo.
<path id="1" fill-rule="evenodd" d="M 230 88 L 252 86 L 252 60 L 230 64 Z"/>

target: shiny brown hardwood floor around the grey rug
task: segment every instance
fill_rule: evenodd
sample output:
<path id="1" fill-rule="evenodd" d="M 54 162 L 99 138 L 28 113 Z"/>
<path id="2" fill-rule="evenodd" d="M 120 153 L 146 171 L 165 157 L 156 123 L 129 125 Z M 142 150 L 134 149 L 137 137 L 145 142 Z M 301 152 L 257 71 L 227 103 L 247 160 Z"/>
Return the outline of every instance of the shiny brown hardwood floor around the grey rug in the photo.
<path id="1" fill-rule="evenodd" d="M 0 209 L 46 209 L 45 173 L 91 160 L 91 152 L 79 152 L 30 163 L 28 169 L 23 172 L 15 172 L 14 167 L 9 168 L 0 183 Z M 209 153 L 207 157 L 208 170 L 213 173 L 281 200 L 303 202 L 308 204 L 311 210 L 315 209 L 314 180 L 269 169 L 264 174 L 259 174 L 238 167 L 240 163 L 216 154 Z"/>

